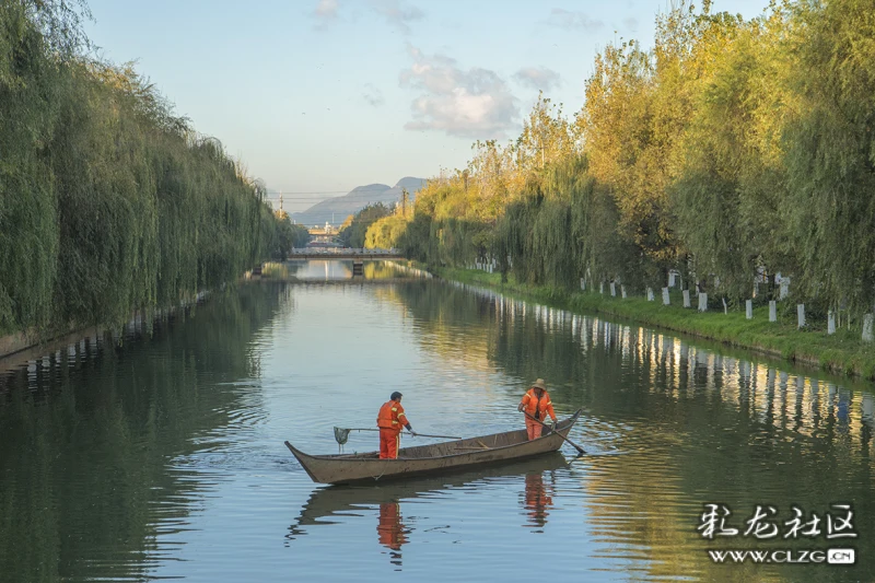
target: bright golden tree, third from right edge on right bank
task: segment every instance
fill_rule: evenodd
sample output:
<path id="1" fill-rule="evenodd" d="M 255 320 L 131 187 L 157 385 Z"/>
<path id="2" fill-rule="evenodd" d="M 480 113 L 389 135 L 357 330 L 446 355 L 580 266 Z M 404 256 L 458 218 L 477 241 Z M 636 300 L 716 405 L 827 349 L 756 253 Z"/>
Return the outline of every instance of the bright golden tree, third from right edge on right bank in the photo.
<path id="1" fill-rule="evenodd" d="M 583 126 L 591 173 L 617 200 L 620 232 L 641 252 L 641 277 L 662 283 L 685 254 L 669 200 L 684 166 L 684 136 L 699 80 L 708 74 L 703 45 L 735 19 L 680 2 L 656 23 L 654 48 L 634 40 L 609 45 L 586 82 Z"/>

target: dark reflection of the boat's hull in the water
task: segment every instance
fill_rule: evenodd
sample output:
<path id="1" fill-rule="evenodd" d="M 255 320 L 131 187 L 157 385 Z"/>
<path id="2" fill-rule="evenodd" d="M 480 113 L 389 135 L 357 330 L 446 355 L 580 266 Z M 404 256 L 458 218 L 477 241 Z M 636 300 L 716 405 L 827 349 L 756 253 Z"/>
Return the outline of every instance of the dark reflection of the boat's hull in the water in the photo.
<path id="1" fill-rule="evenodd" d="M 550 452 L 532 459 L 510 462 L 476 471 L 459 471 L 445 477 L 412 478 L 404 481 L 381 482 L 378 486 L 350 485 L 318 488 L 313 491 L 310 500 L 304 504 L 295 524 L 289 527 L 287 538 L 293 539 L 306 534 L 303 528 L 306 526 L 335 524 L 330 520 L 331 516 L 363 515 L 369 508 L 377 505 L 381 510 L 386 508 L 388 511 L 390 508 L 384 505 L 413 498 L 428 498 L 442 490 L 450 490 L 477 480 L 532 474 L 540 476 L 544 471 L 567 465 L 568 462 L 562 454 Z M 399 527 L 398 532 L 406 534 L 402 527 Z"/>

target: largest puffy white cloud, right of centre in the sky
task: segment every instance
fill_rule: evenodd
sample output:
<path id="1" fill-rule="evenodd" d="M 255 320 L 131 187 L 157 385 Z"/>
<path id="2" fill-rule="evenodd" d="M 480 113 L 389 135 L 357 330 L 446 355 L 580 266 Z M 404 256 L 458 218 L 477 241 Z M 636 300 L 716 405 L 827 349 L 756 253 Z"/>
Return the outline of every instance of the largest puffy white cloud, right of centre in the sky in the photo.
<path id="1" fill-rule="evenodd" d="M 421 92 L 411 103 L 409 130 L 440 130 L 475 139 L 504 138 L 515 127 L 517 100 L 494 71 L 462 70 L 455 59 L 425 56 L 408 45 L 413 65 L 400 74 L 401 86 Z"/>

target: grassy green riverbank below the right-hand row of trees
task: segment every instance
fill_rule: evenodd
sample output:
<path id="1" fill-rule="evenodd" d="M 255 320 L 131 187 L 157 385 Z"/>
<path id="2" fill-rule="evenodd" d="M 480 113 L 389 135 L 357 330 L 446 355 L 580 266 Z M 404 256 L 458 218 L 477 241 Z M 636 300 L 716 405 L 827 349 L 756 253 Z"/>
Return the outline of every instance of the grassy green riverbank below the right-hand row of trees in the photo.
<path id="1" fill-rule="evenodd" d="M 480 270 L 434 268 L 431 271 L 444 279 L 482 285 L 553 307 L 629 318 L 640 324 L 715 340 L 734 348 L 756 350 L 832 373 L 875 380 L 875 346 L 864 343 L 859 331 L 844 328 L 833 335 L 818 329 L 800 330 L 796 328 L 795 306 L 792 318 L 781 317 L 779 304 L 779 320 L 770 323 L 768 306 L 755 308 L 754 319 L 747 319 L 740 311 L 724 314 L 722 311 L 700 313 L 695 308 L 684 308 L 680 292 L 677 290 L 670 294 L 672 305 L 666 306 L 660 301 L 661 296 L 655 302 L 648 302 L 643 298 L 622 299 L 611 298 L 607 293 L 533 287 L 516 282 L 513 278 L 502 283 L 501 273 Z"/>

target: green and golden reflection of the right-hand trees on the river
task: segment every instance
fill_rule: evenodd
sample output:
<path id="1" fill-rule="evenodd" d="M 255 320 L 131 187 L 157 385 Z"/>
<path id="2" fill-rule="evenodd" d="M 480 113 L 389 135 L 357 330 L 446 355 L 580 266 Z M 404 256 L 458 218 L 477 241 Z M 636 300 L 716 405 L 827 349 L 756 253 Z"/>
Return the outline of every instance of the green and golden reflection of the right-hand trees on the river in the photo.
<path id="1" fill-rule="evenodd" d="M 608 433 L 627 453 L 592 462 L 591 521 L 612 555 L 642 562 L 635 569 L 656 579 L 758 578 L 752 568 L 730 572 L 704 556 L 695 527 L 707 502 L 730 503 L 744 521 L 758 503 L 778 505 L 786 520 L 793 503 L 822 513 L 849 500 L 859 540 L 875 539 L 875 521 L 864 518 L 875 516 L 875 415 L 865 386 L 456 285 L 384 293 L 416 318 L 429 349 L 464 352 L 485 370 L 524 380 L 541 376 L 555 401 L 587 407 L 584 431 Z M 775 579 L 803 576 L 782 571 Z"/>

